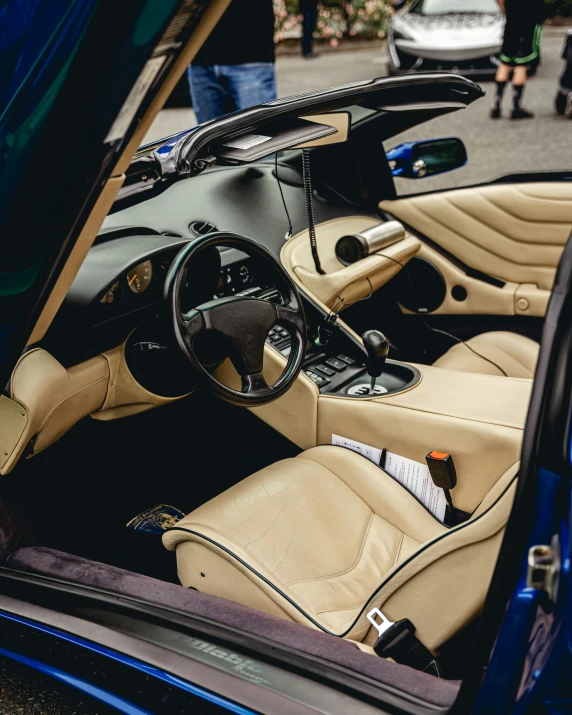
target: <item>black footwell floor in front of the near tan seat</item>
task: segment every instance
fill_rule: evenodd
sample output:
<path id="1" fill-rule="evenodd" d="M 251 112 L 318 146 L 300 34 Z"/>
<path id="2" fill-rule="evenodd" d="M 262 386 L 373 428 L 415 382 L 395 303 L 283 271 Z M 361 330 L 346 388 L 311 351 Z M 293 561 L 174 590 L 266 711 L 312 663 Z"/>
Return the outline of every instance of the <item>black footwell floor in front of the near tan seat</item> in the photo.
<path id="1" fill-rule="evenodd" d="M 155 528 L 165 517 L 148 515 L 150 507 L 167 519 L 190 514 L 299 452 L 248 410 L 197 390 L 126 419 L 82 420 L 34 459 L 21 460 L 10 482 L 33 543 L 178 583 L 175 554 Z M 174 513 L 165 511 L 171 504 Z"/>

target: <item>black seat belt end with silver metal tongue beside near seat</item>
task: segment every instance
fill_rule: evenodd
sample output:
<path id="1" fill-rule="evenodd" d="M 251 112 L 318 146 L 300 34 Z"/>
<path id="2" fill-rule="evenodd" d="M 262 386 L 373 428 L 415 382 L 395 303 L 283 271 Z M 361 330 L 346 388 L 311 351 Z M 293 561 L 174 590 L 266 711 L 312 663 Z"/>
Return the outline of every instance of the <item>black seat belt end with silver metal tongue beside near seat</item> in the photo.
<path id="1" fill-rule="evenodd" d="M 441 678 L 437 659 L 415 635 L 415 626 L 408 618 L 390 621 L 379 608 L 372 608 L 367 619 L 378 632 L 374 651 L 382 658 L 393 658 L 397 663 Z"/>

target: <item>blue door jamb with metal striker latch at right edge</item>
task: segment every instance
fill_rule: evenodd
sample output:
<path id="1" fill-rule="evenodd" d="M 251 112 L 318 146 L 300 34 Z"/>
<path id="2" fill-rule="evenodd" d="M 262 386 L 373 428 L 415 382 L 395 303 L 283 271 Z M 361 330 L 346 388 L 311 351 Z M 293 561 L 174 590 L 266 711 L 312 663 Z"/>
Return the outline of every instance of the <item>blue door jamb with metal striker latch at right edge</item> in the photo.
<path id="1" fill-rule="evenodd" d="M 572 241 L 555 278 L 524 435 L 519 486 L 457 712 L 568 712 Z M 516 587 L 515 587 L 516 584 Z"/>

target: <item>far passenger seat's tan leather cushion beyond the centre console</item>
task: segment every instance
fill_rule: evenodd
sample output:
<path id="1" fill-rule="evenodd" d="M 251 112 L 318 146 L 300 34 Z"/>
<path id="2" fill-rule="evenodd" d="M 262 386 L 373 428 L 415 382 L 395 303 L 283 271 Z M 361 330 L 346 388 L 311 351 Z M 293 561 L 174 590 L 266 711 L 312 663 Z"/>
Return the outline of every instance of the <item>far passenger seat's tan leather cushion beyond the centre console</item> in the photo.
<path id="1" fill-rule="evenodd" d="M 539 350 L 540 345 L 534 340 L 499 330 L 477 335 L 466 344 L 453 345 L 433 366 L 483 375 L 533 378 Z"/>

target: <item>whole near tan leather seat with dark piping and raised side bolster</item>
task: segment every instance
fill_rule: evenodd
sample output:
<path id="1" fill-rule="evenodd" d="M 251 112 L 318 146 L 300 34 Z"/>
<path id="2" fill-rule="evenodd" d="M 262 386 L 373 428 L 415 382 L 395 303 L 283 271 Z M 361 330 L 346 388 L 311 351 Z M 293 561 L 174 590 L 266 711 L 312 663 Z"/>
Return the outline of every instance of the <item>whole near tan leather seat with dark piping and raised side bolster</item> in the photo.
<path id="1" fill-rule="evenodd" d="M 483 605 L 517 469 L 450 529 L 364 457 L 315 447 L 199 507 L 163 543 L 184 586 L 369 644 L 377 607 L 437 650 Z"/>

